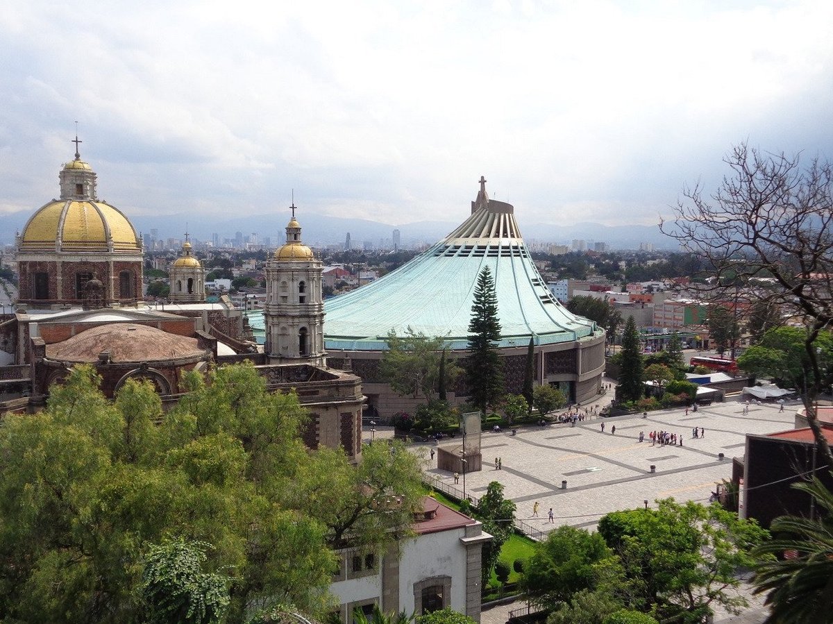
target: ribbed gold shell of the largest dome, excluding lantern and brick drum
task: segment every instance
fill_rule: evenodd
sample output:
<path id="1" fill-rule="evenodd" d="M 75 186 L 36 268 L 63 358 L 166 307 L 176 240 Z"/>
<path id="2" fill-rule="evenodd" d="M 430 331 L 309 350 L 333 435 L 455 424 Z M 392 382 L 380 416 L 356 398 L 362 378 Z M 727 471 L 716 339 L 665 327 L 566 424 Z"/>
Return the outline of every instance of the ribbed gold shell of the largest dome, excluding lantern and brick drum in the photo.
<path id="1" fill-rule="evenodd" d="M 91 200 L 47 203 L 29 218 L 20 237 L 22 252 L 108 252 L 111 244 L 113 252 L 142 252 L 127 217 L 106 202 Z"/>

